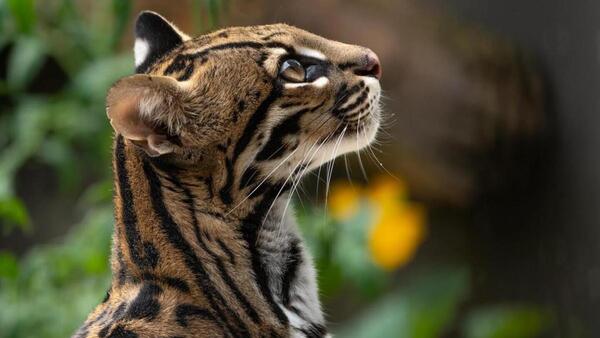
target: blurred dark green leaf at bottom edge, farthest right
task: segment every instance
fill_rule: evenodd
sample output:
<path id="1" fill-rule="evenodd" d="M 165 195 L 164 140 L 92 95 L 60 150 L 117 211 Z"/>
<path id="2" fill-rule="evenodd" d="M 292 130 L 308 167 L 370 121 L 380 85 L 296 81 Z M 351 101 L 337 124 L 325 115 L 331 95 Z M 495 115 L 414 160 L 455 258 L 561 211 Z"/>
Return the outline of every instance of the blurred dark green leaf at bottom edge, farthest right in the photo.
<path id="1" fill-rule="evenodd" d="M 464 331 L 467 338 L 534 338 L 549 322 L 549 316 L 534 306 L 493 306 L 470 313 Z"/>

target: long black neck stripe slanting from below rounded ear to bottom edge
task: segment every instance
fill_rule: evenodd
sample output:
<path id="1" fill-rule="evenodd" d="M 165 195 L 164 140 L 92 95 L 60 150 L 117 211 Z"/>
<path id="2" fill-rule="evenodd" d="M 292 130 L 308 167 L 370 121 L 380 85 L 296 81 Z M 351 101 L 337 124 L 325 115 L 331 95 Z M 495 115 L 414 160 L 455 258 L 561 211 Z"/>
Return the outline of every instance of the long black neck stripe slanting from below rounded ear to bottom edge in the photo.
<path id="1" fill-rule="evenodd" d="M 194 275 L 196 284 L 206 296 L 211 309 L 218 314 L 218 317 L 224 322 L 224 325 L 231 334 L 235 337 L 249 336 L 250 333 L 248 328 L 239 319 L 239 316 L 226 306 L 227 301 L 213 285 L 210 275 L 207 273 L 202 261 L 198 259 L 194 250 L 185 240 L 179 231 L 179 227 L 167 210 L 163 199 L 161 183 L 156 172 L 152 168 L 152 165 L 147 160 L 144 160 L 142 167 L 150 186 L 150 200 L 152 207 L 160 220 L 159 226 L 161 232 L 166 236 L 171 245 L 180 252 L 185 265 Z M 223 309 L 221 307 L 223 307 Z M 225 313 L 227 313 L 227 315 Z M 237 328 L 231 326 L 228 319 L 234 321 Z"/>

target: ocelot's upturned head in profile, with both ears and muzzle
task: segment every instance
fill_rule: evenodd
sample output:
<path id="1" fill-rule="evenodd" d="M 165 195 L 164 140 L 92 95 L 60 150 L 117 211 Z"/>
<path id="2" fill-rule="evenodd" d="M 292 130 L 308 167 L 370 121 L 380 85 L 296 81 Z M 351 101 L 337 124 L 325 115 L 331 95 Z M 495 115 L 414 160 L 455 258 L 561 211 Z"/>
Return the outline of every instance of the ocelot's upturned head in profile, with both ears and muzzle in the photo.
<path id="1" fill-rule="evenodd" d="M 214 174 L 225 205 L 376 135 L 381 65 L 368 48 L 285 24 L 190 38 L 153 12 L 135 34 L 137 74 L 108 94 L 113 128 L 150 157 Z"/>

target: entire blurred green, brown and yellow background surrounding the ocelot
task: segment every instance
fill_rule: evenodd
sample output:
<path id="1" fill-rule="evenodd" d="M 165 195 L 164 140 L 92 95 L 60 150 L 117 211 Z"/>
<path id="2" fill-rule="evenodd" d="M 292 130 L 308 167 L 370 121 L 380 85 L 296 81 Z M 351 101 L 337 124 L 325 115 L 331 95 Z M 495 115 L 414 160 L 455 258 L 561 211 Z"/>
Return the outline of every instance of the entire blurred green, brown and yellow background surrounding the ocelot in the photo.
<path id="1" fill-rule="evenodd" d="M 143 9 L 379 54 L 378 142 L 296 201 L 336 337 L 600 336 L 599 2 L 0 0 L 0 337 L 70 336 L 110 284 L 104 98 Z"/>

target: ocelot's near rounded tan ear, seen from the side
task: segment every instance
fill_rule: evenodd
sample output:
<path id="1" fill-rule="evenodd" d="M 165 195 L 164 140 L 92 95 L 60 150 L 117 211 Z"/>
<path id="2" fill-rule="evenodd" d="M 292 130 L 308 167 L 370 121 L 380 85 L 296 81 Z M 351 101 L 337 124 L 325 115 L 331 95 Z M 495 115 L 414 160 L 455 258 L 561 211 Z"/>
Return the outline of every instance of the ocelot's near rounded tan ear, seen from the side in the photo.
<path id="1" fill-rule="evenodd" d="M 167 76 L 128 76 L 108 91 L 106 114 L 117 133 L 148 155 L 168 154 L 180 147 L 185 94 L 182 86 Z"/>

